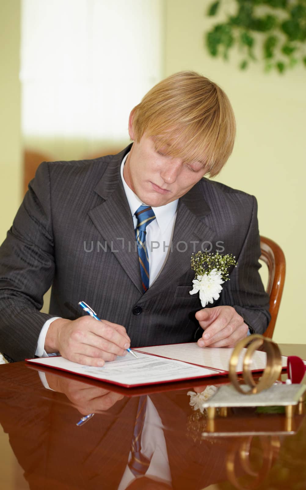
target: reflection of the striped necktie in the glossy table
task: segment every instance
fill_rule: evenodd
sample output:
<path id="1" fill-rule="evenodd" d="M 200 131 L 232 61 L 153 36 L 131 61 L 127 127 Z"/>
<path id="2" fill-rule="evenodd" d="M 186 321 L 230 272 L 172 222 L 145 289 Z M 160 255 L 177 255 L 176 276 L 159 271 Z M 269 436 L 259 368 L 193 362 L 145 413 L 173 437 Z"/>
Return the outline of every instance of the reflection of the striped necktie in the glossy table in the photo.
<path id="1" fill-rule="evenodd" d="M 134 476 L 142 476 L 146 474 L 150 466 L 150 459 L 148 459 L 141 452 L 141 435 L 145 422 L 147 409 L 147 395 L 141 395 L 139 397 L 137 416 L 135 420 L 134 433 L 131 445 L 131 460 L 128 466 Z"/>

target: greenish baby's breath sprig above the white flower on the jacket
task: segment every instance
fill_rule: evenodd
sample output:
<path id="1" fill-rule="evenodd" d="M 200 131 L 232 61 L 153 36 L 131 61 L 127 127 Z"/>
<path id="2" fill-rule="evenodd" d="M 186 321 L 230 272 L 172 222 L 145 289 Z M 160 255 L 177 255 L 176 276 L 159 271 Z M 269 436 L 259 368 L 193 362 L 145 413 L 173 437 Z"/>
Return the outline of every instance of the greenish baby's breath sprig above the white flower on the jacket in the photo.
<path id="1" fill-rule="evenodd" d="M 237 267 L 235 255 L 220 255 L 219 252 L 197 252 L 191 256 L 191 269 L 196 272 L 196 276 L 209 274 L 212 270 L 218 270 L 224 281 L 228 281 L 228 269 L 230 266 Z"/>

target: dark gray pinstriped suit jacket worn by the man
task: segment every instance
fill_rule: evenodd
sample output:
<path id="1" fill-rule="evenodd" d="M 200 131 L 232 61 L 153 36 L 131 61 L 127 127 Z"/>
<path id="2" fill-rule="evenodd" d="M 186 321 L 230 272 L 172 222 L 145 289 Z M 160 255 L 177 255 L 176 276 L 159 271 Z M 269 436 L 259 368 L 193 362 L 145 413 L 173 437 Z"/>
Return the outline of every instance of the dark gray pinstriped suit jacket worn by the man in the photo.
<path id="1" fill-rule="evenodd" d="M 211 306 L 232 305 L 255 331 L 265 330 L 268 297 L 258 273 L 256 200 L 217 182 L 202 179 L 180 198 L 173 251 L 142 293 L 120 179 L 129 149 L 89 161 L 43 163 L 31 182 L 0 249 L 0 351 L 13 360 L 34 356 L 46 319 L 80 316 L 80 300 L 100 318 L 123 324 L 132 346 L 194 341 L 201 305 L 198 295 L 189 294 L 190 257 L 203 242 L 203 248 L 223 246 L 238 259 Z M 51 284 L 50 315 L 41 314 Z"/>

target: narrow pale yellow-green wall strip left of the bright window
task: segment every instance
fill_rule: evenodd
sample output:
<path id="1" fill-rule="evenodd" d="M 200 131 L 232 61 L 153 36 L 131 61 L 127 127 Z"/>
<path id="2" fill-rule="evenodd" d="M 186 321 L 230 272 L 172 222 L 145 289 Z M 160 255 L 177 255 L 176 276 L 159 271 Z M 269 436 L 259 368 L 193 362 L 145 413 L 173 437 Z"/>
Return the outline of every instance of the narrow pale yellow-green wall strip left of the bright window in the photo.
<path id="1" fill-rule="evenodd" d="M 0 243 L 21 201 L 20 1 L 0 6 Z"/>

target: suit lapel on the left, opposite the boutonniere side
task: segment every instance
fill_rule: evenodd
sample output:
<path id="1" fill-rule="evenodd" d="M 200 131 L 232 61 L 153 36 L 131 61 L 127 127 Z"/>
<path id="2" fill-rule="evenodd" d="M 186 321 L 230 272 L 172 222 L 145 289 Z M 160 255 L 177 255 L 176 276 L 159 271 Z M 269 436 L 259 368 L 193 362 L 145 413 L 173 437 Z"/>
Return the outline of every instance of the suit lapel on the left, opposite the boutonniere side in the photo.
<path id="1" fill-rule="evenodd" d="M 95 192 L 104 202 L 88 212 L 93 224 L 104 238 L 109 250 L 142 293 L 138 252 L 130 206 L 120 176 L 121 162 L 130 147 L 115 155 L 98 182 Z"/>

